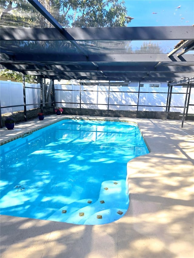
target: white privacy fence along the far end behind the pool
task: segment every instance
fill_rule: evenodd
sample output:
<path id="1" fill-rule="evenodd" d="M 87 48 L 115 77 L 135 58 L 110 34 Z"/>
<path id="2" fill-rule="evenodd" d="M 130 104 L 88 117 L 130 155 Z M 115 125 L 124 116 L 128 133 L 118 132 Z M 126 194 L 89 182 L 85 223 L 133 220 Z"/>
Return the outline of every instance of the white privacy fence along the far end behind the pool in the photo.
<path id="1" fill-rule="evenodd" d="M 55 98 L 58 106 L 69 108 L 89 108 L 109 110 L 166 111 L 168 87 L 118 87 L 118 86 L 80 86 L 55 85 Z M 151 93 L 149 93 L 151 92 Z M 186 88 L 172 87 L 171 112 L 183 113 Z M 80 102 L 81 97 L 81 102 Z M 81 103 L 81 105 L 80 105 Z M 190 104 L 194 104 L 194 90 L 191 90 Z M 163 107 L 162 107 L 163 106 Z M 176 107 L 175 107 L 176 106 Z M 189 106 L 188 113 L 194 113 L 194 106 Z"/>

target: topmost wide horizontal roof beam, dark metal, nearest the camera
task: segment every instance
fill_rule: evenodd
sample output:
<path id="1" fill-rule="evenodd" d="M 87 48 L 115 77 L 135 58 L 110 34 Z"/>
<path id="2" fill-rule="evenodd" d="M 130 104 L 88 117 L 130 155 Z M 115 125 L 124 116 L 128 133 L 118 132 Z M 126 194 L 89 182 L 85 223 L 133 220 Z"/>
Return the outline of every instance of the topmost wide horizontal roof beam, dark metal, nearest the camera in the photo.
<path id="1" fill-rule="evenodd" d="M 194 26 L 1 28 L 1 40 L 193 40 Z"/>

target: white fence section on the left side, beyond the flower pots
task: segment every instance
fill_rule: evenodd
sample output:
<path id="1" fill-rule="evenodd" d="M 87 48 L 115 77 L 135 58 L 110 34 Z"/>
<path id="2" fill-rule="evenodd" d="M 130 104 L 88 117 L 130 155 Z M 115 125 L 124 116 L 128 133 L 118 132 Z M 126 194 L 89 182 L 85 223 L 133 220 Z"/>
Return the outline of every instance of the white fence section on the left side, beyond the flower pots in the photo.
<path id="1" fill-rule="evenodd" d="M 33 89 L 26 88 L 26 104 L 37 103 L 36 105 L 27 106 L 27 110 L 40 106 L 40 84 L 25 83 L 26 87 L 33 87 Z M 0 101 L 1 107 L 15 106 L 24 104 L 23 84 L 12 81 L 0 81 Z M 2 108 L 1 113 L 13 113 L 15 111 L 24 110 L 24 106 Z"/>

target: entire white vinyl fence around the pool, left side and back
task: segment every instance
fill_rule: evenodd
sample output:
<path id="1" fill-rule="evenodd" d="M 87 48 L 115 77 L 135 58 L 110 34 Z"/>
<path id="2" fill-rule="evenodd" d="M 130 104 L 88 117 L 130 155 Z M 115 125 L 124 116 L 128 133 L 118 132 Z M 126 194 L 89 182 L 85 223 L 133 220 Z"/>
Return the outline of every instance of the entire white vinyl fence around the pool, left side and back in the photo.
<path id="1" fill-rule="evenodd" d="M 132 84 L 133 85 L 133 84 Z M 146 84 L 145 84 L 146 85 Z M 27 110 L 40 106 L 40 84 L 26 83 Z M 28 88 L 29 87 L 29 88 Z M 139 91 L 139 92 L 138 92 Z M 56 106 L 104 110 L 165 111 L 168 87 L 125 87 L 104 85 L 55 85 Z M 172 87 L 171 112 L 183 113 L 186 88 Z M 2 114 L 24 110 L 23 84 L 0 81 L 0 101 Z M 194 88 L 191 90 L 190 104 L 194 104 Z M 189 106 L 189 114 L 194 106 Z"/>

